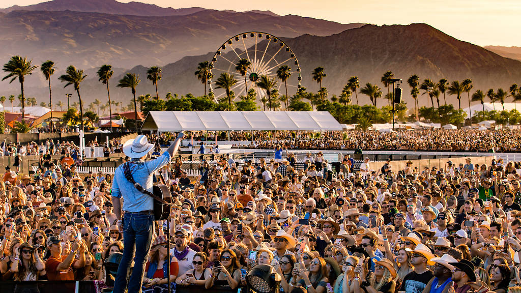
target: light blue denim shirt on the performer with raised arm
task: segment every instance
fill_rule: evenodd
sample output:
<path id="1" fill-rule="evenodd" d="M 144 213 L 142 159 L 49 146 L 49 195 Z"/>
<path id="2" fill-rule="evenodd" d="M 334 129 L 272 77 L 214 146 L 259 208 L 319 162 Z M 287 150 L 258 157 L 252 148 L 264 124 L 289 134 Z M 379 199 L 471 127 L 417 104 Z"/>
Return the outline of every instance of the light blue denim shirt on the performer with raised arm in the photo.
<path id="1" fill-rule="evenodd" d="M 152 192 L 152 174 L 168 164 L 168 162 L 170 162 L 170 154 L 164 152 L 154 160 L 146 162 L 139 160 L 137 164 L 130 164 L 134 181 L 141 184 L 144 189 Z M 123 164 L 117 167 L 114 173 L 111 196 L 117 198 L 123 197 L 123 211 L 125 212 L 141 212 L 154 209 L 154 199 L 139 192 L 135 189 L 134 185 L 125 178 Z"/>

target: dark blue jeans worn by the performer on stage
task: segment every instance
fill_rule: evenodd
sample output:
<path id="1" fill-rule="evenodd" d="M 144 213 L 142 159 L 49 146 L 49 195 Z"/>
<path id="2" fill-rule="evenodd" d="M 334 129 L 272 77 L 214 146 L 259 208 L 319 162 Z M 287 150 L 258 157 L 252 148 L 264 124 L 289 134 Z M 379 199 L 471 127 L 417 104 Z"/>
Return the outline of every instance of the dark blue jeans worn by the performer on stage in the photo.
<path id="1" fill-rule="evenodd" d="M 141 292 L 143 271 L 146 257 L 150 251 L 152 234 L 154 233 L 154 216 L 138 213 L 125 213 L 121 223 L 123 227 L 123 257 L 118 267 L 118 274 L 114 281 L 113 293 Z M 135 259 L 134 259 L 135 253 Z M 134 268 L 130 278 L 129 270 L 134 259 Z M 128 279 L 128 280 L 127 280 Z"/>

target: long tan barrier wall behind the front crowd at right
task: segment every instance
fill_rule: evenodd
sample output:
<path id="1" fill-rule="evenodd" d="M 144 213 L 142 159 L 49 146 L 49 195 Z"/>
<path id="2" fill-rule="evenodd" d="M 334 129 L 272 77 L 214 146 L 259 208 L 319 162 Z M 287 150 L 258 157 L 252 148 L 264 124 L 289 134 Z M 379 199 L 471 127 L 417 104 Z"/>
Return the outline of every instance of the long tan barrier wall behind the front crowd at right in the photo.
<path id="1" fill-rule="evenodd" d="M 426 166 L 429 167 L 429 169 L 432 167 L 438 167 L 438 169 L 445 168 L 445 164 L 449 161 L 452 161 L 456 166 L 460 165 L 460 163 L 465 165 L 466 158 L 467 157 L 430 158 L 425 160 L 411 160 L 411 162 L 413 162 L 413 167 L 418 167 L 418 170 L 423 171 Z M 494 158 L 495 156 L 473 156 L 470 157 L 470 162 L 472 162 L 472 164 L 490 165 Z M 386 162 L 369 162 L 369 166 L 376 171 L 380 170 L 385 163 Z M 391 161 L 391 169 L 393 172 L 398 172 L 399 170 L 405 169 L 406 163 L 407 161 Z"/>

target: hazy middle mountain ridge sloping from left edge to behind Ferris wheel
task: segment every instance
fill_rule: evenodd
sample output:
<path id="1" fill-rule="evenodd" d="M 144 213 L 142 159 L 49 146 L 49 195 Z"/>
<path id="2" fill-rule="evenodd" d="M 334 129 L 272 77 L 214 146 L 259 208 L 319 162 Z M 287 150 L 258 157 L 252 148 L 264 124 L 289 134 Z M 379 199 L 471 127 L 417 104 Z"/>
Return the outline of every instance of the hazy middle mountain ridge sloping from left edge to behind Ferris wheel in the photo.
<path id="1" fill-rule="evenodd" d="M 295 37 L 330 35 L 360 26 L 294 15 L 217 10 L 163 17 L 15 10 L 0 14 L 0 62 L 23 55 L 36 63 L 54 60 L 61 68 L 106 63 L 123 68 L 162 66 L 187 55 L 215 51 L 227 38 L 244 31 Z"/>

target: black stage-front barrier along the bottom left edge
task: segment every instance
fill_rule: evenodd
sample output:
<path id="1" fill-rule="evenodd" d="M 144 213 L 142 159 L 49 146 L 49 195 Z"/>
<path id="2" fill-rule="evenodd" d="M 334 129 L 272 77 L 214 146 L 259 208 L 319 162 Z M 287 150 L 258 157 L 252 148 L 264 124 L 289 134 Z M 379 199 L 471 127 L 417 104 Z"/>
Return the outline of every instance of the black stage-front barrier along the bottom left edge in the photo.
<path id="1" fill-rule="evenodd" d="M 2 292 L 11 293 L 96 293 L 96 285 L 94 281 L 23 281 L 11 282 L 0 281 Z M 214 286 L 205 289 L 203 286 L 177 286 L 176 293 L 237 293 L 239 289 L 231 290 L 230 288 Z M 241 288 L 241 292 L 245 292 Z"/>

